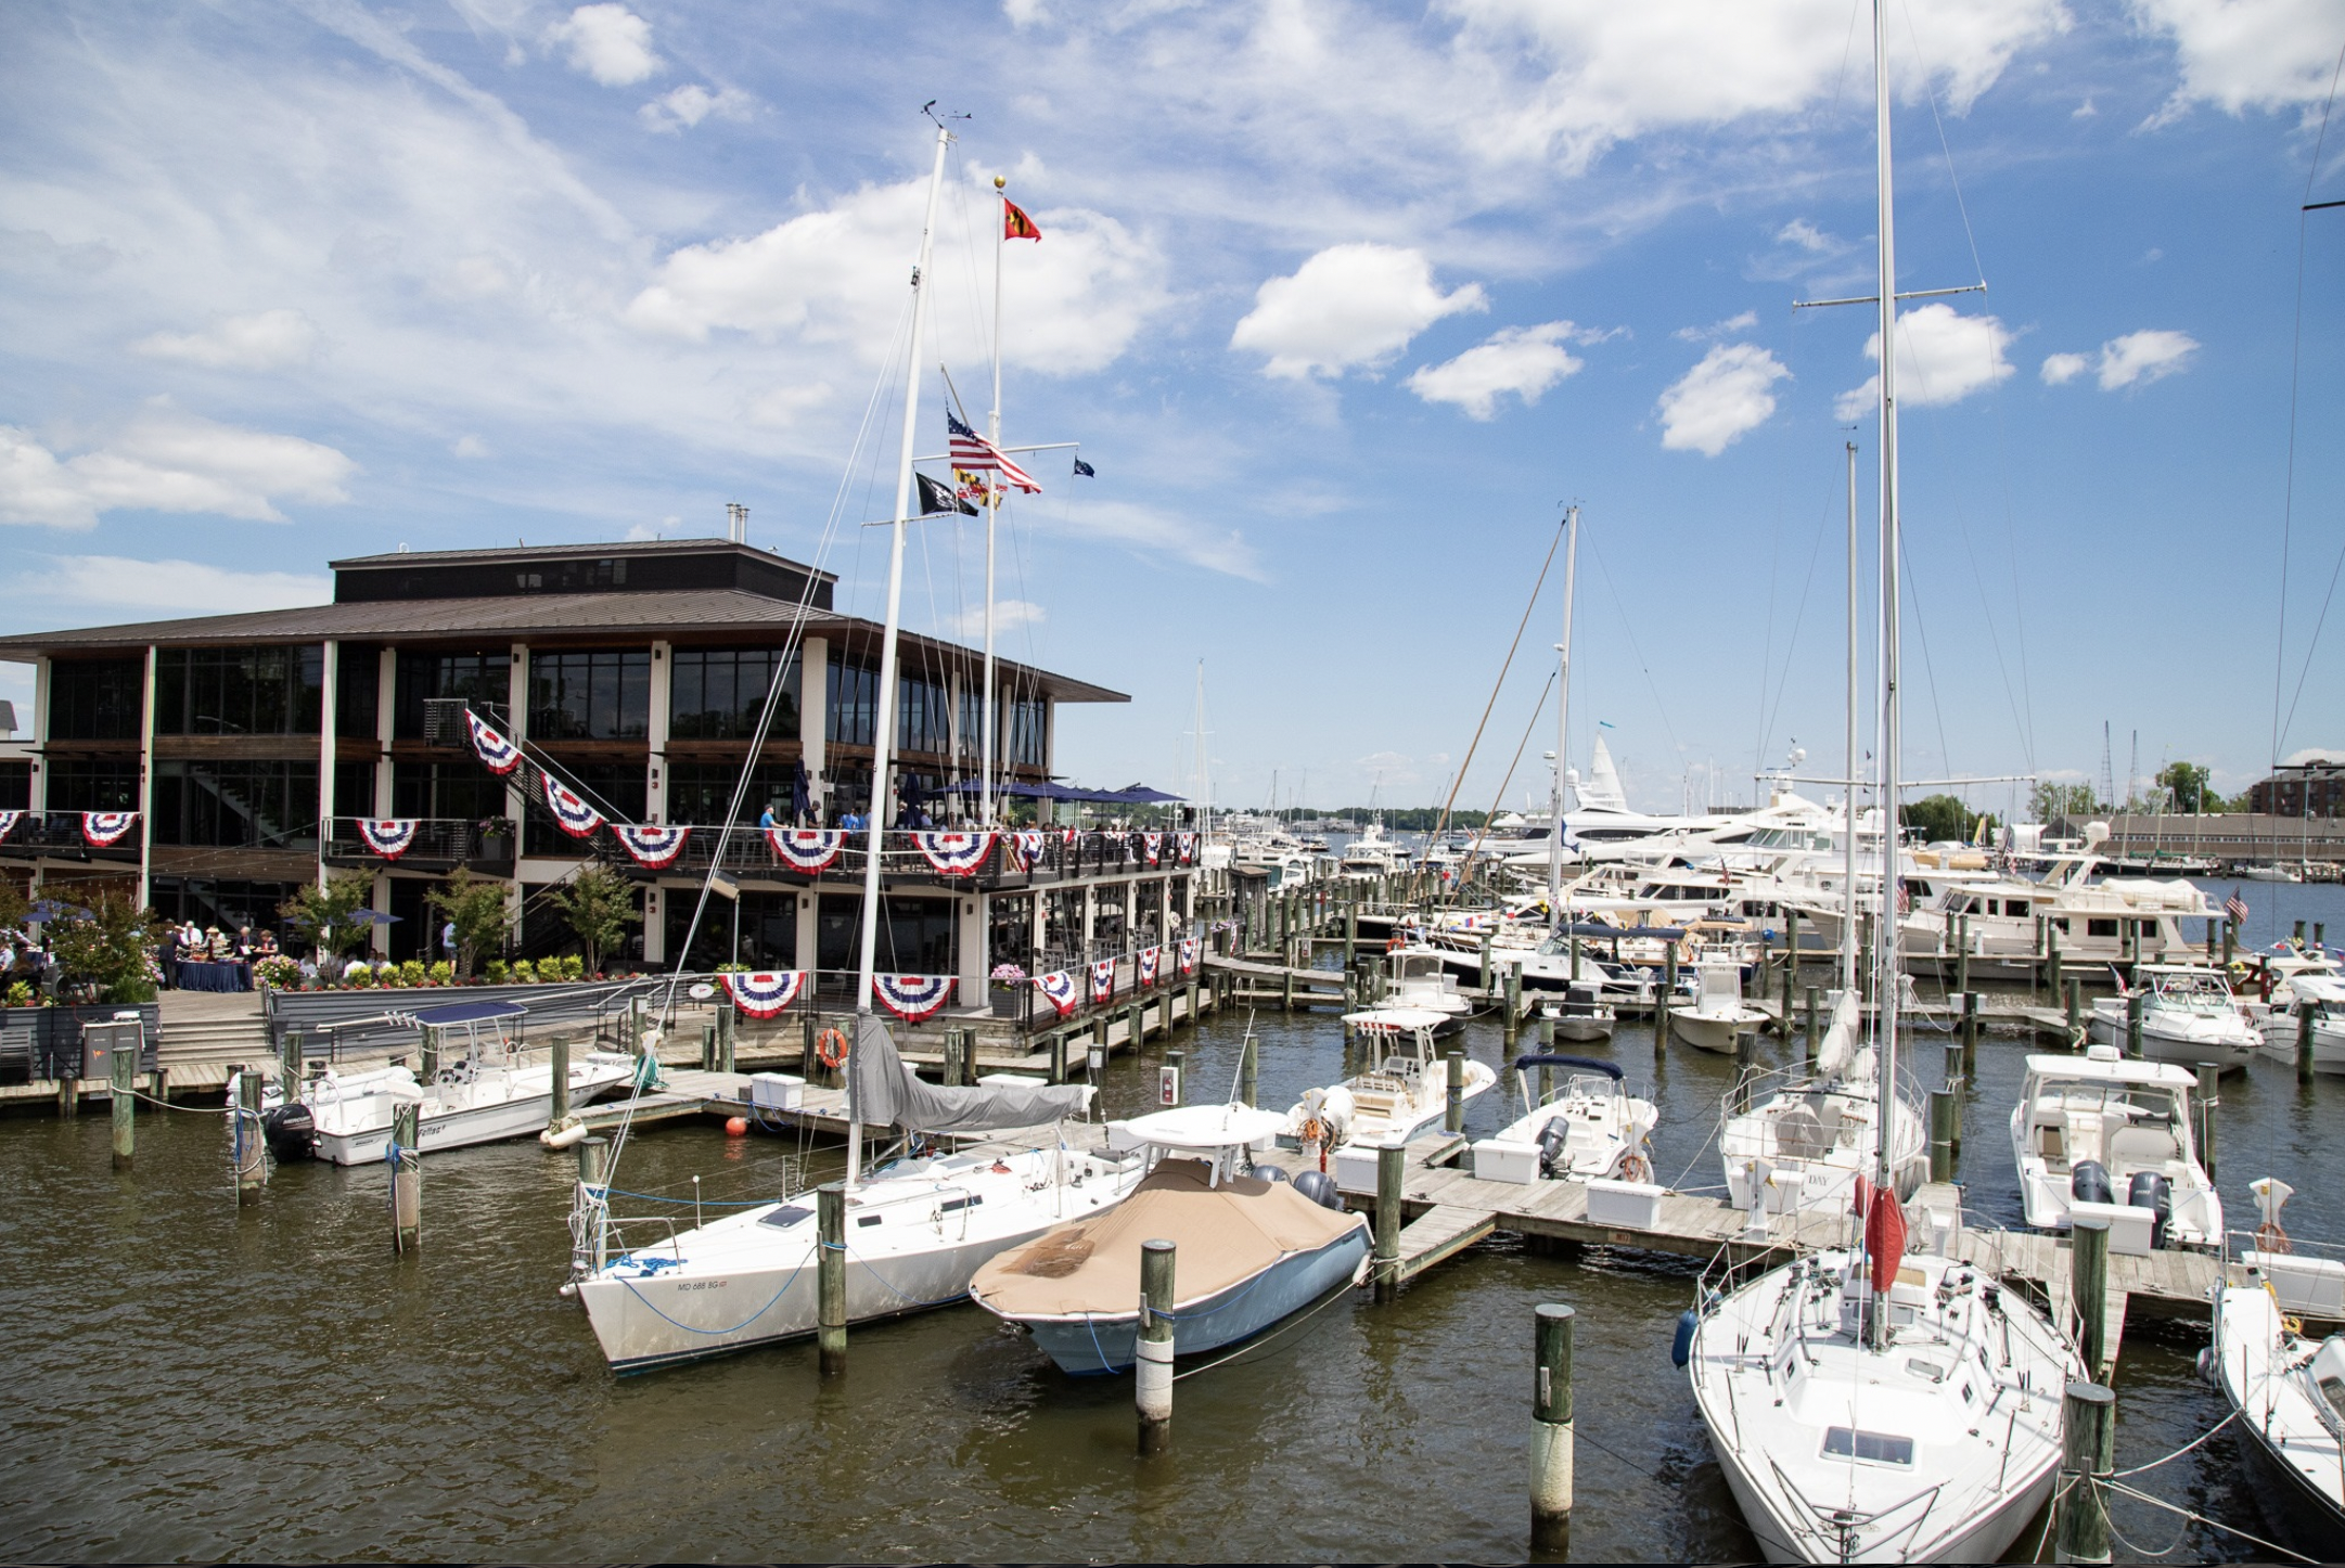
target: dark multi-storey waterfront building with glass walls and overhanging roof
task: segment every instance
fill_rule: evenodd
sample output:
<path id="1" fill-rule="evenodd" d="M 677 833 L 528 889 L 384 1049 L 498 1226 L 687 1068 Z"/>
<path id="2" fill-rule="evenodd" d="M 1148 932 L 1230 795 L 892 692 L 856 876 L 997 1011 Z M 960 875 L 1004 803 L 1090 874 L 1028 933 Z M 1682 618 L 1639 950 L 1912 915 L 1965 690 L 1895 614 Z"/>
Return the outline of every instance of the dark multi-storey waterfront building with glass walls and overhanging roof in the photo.
<path id="1" fill-rule="evenodd" d="M 331 605 L 0 638 L 35 670 L 30 736 L 0 745 L 0 867 L 33 881 L 136 877 L 162 914 L 277 921 L 321 870 L 363 870 L 389 956 L 424 956 L 427 888 L 453 867 L 511 888 L 516 954 L 565 940 L 539 893 L 586 860 L 640 884 L 640 959 L 685 940 L 764 696 L 781 698 L 694 966 L 851 970 L 861 846 L 802 874 L 755 830 L 837 823 L 872 797 L 882 626 L 832 607 L 835 579 L 725 539 L 516 546 L 335 560 Z M 1069 703 L 1128 701 L 1081 680 L 997 661 L 997 778 L 1048 785 Z M 945 825 L 973 811 L 952 785 L 978 771 L 983 659 L 903 633 L 896 795 Z M 692 825 L 661 872 L 607 832 L 570 837 L 523 769 L 474 755 L 471 710 L 523 743 L 612 823 Z M 113 844 L 106 820 L 136 813 Z M 396 858 L 361 818 L 415 823 Z M 98 823 L 98 827 L 91 827 Z M 994 855 L 976 877 L 886 860 L 882 966 L 959 975 L 964 1003 L 992 963 L 1060 966 L 1168 935 L 1194 914 L 1175 855 L 1149 865 L 1121 837 L 1051 839 L 1029 867 Z M 436 956 L 436 954 L 431 954 Z M 825 982 L 828 984 L 828 982 Z"/>

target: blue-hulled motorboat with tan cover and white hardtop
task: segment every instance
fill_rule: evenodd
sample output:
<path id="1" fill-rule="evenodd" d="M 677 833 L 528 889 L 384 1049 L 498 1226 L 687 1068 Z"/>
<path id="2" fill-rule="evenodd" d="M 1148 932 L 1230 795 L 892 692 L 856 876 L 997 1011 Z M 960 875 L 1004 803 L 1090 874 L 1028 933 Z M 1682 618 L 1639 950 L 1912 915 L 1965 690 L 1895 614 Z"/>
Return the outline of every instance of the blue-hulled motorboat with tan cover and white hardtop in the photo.
<path id="1" fill-rule="evenodd" d="M 1175 1106 L 1109 1123 L 1147 1174 L 1114 1209 L 1053 1226 L 985 1263 L 968 1296 L 1074 1376 L 1130 1371 L 1140 1336 L 1140 1249 L 1172 1254 L 1172 1355 L 1243 1345 L 1367 1273 L 1367 1219 L 1320 1172 L 1287 1181 L 1252 1151 L 1285 1118 L 1243 1104 Z M 1316 1195 L 1311 1195 L 1316 1193 Z"/>

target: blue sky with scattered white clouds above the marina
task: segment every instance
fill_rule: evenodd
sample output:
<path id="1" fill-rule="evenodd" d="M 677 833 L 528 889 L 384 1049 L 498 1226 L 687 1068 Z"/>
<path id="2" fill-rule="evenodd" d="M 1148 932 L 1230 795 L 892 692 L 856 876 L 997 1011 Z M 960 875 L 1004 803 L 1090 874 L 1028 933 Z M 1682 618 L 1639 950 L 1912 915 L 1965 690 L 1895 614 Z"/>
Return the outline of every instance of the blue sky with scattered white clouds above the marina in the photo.
<path id="1" fill-rule="evenodd" d="M 1890 2 L 1897 286 L 1986 284 L 1899 326 L 1904 773 L 2345 755 L 2345 209 L 2300 211 L 2345 197 L 2345 0 Z M 877 616 L 908 359 L 938 452 L 999 340 L 1004 441 L 1095 469 L 1039 452 L 1004 513 L 1001 652 L 1133 698 L 1062 713 L 1065 776 L 1201 790 L 1203 670 L 1224 806 L 1545 797 L 1566 504 L 1573 762 L 1646 809 L 1836 773 L 1878 335 L 1796 302 L 1876 286 L 1869 40 L 1848 0 L 7 7 L 0 628 L 727 502 Z M 1041 230 L 999 335 L 997 176 Z M 905 623 L 976 635 L 983 555 L 917 525 Z"/>

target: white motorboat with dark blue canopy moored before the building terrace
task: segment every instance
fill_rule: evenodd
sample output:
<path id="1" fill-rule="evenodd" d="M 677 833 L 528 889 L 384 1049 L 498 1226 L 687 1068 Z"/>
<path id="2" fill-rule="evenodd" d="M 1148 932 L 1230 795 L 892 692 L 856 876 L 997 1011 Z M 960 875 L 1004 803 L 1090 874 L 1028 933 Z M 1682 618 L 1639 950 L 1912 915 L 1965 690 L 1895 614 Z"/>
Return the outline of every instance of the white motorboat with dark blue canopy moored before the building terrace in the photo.
<path id="1" fill-rule="evenodd" d="M 270 1083 L 260 1125 L 279 1160 L 375 1165 L 392 1144 L 401 1106 L 417 1109 L 422 1153 L 532 1137 L 553 1120 L 553 1062 L 532 1059 L 521 1038 L 528 1008 L 514 1001 L 462 1001 L 424 1008 L 424 1071 L 401 1062 L 345 1071 L 319 1066 L 293 1095 Z M 368 1020 L 373 1022 L 373 1020 Z M 635 1078 L 638 1057 L 591 1050 L 570 1062 L 570 1104 Z"/>

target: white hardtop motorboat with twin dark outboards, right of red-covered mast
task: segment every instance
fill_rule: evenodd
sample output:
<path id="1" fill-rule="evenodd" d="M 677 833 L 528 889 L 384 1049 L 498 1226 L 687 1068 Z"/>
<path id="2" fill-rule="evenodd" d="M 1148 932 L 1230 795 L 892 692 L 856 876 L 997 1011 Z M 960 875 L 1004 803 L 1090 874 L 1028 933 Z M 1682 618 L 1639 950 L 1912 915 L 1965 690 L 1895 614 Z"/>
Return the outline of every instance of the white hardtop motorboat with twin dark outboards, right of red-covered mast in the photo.
<path id="1" fill-rule="evenodd" d="M 2197 1076 L 2115 1045 L 2028 1057 L 2012 1106 L 2019 1198 L 2038 1230 L 2066 1230 L 2078 1202 L 2146 1209 L 2150 1247 L 2216 1247 L 2223 1198 L 2200 1165 Z M 2115 1242 L 2113 1242 L 2115 1245 Z"/>

